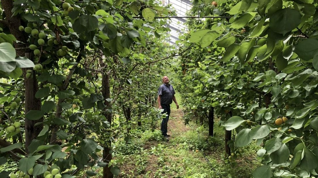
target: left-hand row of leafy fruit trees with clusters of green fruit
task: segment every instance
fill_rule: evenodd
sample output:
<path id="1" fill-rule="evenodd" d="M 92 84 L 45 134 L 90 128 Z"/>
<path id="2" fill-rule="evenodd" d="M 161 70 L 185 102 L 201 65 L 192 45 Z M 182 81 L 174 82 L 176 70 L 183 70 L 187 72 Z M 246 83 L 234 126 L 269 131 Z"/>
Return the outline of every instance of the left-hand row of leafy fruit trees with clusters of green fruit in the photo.
<path id="1" fill-rule="evenodd" d="M 155 128 L 169 6 L 2 0 L 0 177 L 118 175 L 112 143 Z"/>

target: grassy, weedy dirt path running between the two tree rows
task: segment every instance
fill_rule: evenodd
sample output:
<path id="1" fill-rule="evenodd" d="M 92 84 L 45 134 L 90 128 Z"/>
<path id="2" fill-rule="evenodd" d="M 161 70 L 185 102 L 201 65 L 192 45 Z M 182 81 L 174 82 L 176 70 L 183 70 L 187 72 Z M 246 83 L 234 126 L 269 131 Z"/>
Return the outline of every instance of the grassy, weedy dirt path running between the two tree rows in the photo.
<path id="1" fill-rule="evenodd" d="M 258 165 L 253 157 L 257 146 L 246 148 L 243 156 L 232 167 L 224 161 L 224 129 L 215 126 L 215 137 L 208 137 L 207 128 L 195 123 L 183 124 L 183 111 L 172 109 L 166 142 L 160 136 L 160 128 L 155 132 L 141 133 L 125 145 L 126 154 L 116 156 L 123 159 L 119 166 L 122 178 L 248 178 Z M 159 124 L 158 124 L 159 125 Z M 217 124 L 215 124 L 217 125 Z M 159 125 L 160 126 L 160 125 Z M 131 149 L 127 152 L 127 150 Z M 253 155 L 252 157 L 250 155 Z"/>

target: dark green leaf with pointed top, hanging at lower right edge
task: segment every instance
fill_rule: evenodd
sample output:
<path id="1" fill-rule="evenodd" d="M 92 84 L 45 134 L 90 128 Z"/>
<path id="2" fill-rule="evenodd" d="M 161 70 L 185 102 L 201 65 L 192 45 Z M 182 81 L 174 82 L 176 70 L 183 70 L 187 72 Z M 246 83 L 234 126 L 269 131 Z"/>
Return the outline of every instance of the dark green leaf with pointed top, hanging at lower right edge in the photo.
<path id="1" fill-rule="evenodd" d="M 300 162 L 300 168 L 306 170 L 307 172 L 317 168 L 318 160 L 314 153 L 308 149 L 307 147 L 304 148 L 304 158 Z"/>

